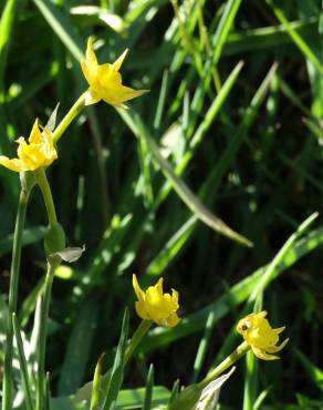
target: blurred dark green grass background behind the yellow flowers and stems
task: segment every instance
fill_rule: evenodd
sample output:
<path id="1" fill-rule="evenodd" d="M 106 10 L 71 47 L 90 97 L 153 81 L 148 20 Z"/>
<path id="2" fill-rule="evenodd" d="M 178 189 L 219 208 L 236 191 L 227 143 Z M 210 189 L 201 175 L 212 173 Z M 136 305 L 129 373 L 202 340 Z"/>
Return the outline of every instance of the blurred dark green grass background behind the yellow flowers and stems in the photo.
<path id="1" fill-rule="evenodd" d="M 133 273 L 145 286 L 163 275 L 166 288 L 180 293 L 184 319 L 150 331 L 125 386 L 145 386 L 150 362 L 155 385 L 197 380 L 240 342 L 231 329 L 265 266 L 322 211 L 321 0 L 0 3 L 1 154 L 14 154 L 14 140 L 29 135 L 35 117 L 45 124 L 60 102 L 61 119 L 86 90 L 80 61 L 90 35 L 101 63 L 128 48 L 124 83 L 150 90 L 127 112 L 104 103 L 86 109 L 60 141 L 49 173 L 69 245 L 86 246 L 54 283 L 52 393 L 72 394 L 91 380 L 103 351 L 108 362 L 125 306 L 135 329 Z M 187 206 L 192 197 L 180 197 L 184 184 L 253 247 L 200 222 Z M 4 311 L 17 174 L 0 170 L 0 193 Z M 29 335 L 44 276 L 46 218 L 37 191 L 27 221 L 19 316 Z M 256 409 L 263 391 L 263 409 L 323 408 L 322 217 L 300 235 L 272 265 L 263 293 L 263 308 L 273 326 L 286 326 L 290 344 L 279 362 L 252 371 L 239 363 L 221 409 Z"/>

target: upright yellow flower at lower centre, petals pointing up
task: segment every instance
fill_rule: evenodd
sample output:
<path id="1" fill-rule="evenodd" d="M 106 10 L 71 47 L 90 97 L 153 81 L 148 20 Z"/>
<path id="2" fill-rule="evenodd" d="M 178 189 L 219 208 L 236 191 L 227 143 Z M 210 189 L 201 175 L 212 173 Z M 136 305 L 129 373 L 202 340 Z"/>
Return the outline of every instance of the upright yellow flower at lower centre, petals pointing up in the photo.
<path id="1" fill-rule="evenodd" d="M 174 327 L 179 318 L 178 293 L 171 289 L 171 295 L 163 294 L 163 278 L 155 286 L 149 286 L 144 291 L 137 281 L 136 275 L 133 275 L 133 286 L 138 298 L 136 301 L 137 315 L 144 320 L 154 320 L 159 326 Z"/>

